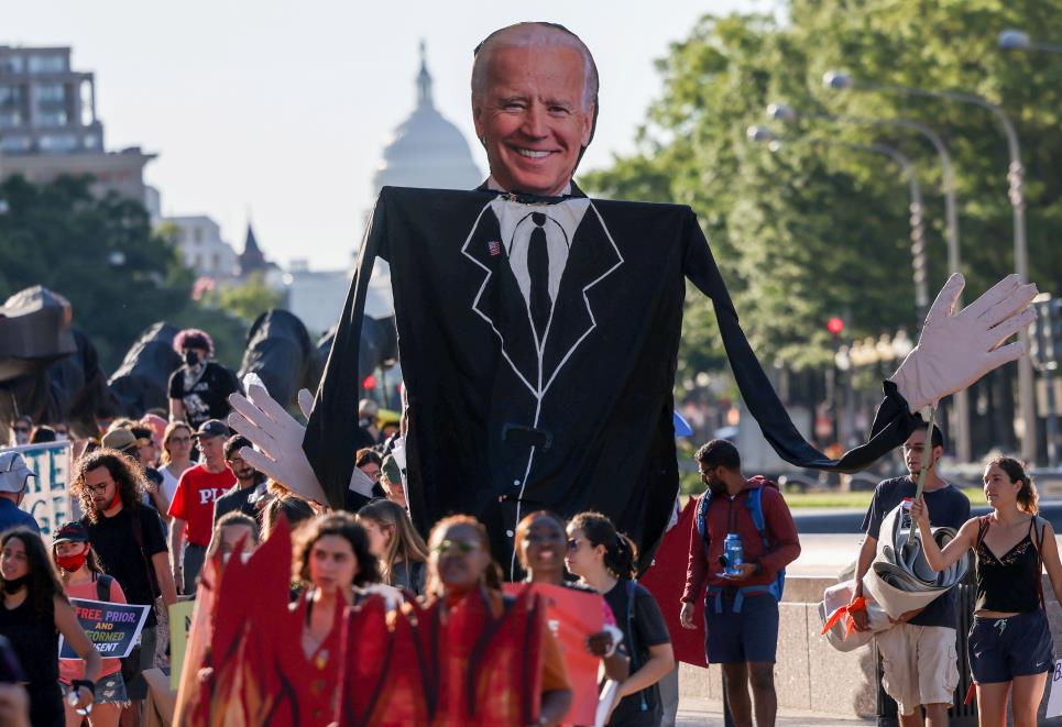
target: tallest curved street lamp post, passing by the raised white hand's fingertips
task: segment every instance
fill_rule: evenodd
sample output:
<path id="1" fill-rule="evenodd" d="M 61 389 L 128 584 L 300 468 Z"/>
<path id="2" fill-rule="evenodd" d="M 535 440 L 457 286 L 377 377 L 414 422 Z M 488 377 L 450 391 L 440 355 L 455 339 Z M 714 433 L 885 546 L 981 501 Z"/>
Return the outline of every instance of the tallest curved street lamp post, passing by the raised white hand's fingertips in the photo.
<path id="1" fill-rule="evenodd" d="M 826 71 L 822 77 L 822 82 L 826 88 L 843 90 L 872 90 L 885 93 L 902 93 L 905 96 L 916 96 L 921 98 L 935 98 L 957 103 L 972 103 L 989 111 L 1003 126 L 1004 135 L 1007 139 L 1007 152 L 1010 164 L 1007 168 L 1007 181 L 1009 183 L 1008 197 L 1010 209 L 1014 217 L 1014 263 L 1015 272 L 1022 280 L 1029 279 L 1028 246 L 1026 244 L 1025 225 L 1025 190 L 1023 178 L 1025 168 L 1021 166 L 1021 146 L 1018 142 L 1018 132 L 1006 113 L 995 103 L 977 96 L 963 91 L 930 91 L 923 88 L 911 88 L 908 86 L 887 86 L 884 84 L 872 84 L 867 81 L 856 81 L 851 76 L 834 70 Z M 1029 348 L 1029 332 L 1025 329 L 1019 331 L 1018 340 Z M 1021 410 L 1021 456 L 1025 460 L 1034 462 L 1037 458 L 1037 412 L 1036 399 L 1032 390 L 1032 362 L 1029 356 L 1021 356 L 1018 360 L 1018 405 Z"/>

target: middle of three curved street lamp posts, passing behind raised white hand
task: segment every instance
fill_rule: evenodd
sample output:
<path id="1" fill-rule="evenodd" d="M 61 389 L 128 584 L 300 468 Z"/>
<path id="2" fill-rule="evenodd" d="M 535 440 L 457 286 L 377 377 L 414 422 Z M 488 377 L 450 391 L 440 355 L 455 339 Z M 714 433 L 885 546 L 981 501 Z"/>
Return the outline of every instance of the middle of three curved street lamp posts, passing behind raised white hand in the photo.
<path id="1" fill-rule="evenodd" d="M 831 117 L 824 113 L 798 112 L 786 103 L 771 103 L 767 107 L 767 117 L 779 121 L 793 121 L 798 115 L 806 119 L 817 119 L 833 123 L 844 123 L 866 126 L 899 126 L 909 129 L 933 145 L 937 155 L 940 157 L 941 181 L 944 188 L 944 219 L 948 229 L 948 272 L 950 275 L 962 272 L 962 263 L 959 252 L 959 213 L 955 207 L 955 170 L 952 167 L 951 154 L 944 140 L 940 137 L 931 126 L 912 119 L 861 119 L 857 117 Z M 959 297 L 956 305 L 962 308 L 962 296 Z M 917 321 L 921 326 L 922 321 Z M 973 447 L 970 440 L 970 394 L 966 389 L 961 389 L 954 394 L 955 420 L 954 420 L 954 441 L 955 454 L 960 462 L 970 462 L 973 459 Z"/>

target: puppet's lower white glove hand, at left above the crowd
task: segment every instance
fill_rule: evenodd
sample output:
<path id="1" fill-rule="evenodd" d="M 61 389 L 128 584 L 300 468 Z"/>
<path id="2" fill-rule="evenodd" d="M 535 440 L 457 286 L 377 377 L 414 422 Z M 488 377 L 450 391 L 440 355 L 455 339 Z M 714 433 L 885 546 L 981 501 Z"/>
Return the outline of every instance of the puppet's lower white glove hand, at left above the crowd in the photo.
<path id="1" fill-rule="evenodd" d="M 325 491 L 303 451 L 306 427 L 285 411 L 263 386 L 251 384 L 247 388 L 245 397 L 241 394 L 229 395 L 233 409 L 229 415 L 229 426 L 256 448 L 244 447 L 240 455 L 252 467 L 300 497 L 327 505 Z M 306 389 L 298 393 L 298 405 L 303 414 L 308 416 L 313 397 Z"/>

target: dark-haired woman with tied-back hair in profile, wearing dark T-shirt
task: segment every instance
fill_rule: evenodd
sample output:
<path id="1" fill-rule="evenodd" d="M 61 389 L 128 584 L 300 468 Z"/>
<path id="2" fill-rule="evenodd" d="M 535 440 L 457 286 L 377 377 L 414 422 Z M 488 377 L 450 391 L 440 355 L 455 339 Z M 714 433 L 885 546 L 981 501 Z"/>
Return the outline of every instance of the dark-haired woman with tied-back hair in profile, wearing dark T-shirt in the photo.
<path id="1" fill-rule="evenodd" d="M 604 596 L 623 631 L 631 673 L 616 693 L 607 725 L 649 727 L 664 719 L 658 682 L 675 669 L 671 635 L 656 599 L 635 576 L 637 548 L 601 513 L 568 522 L 568 570 Z"/>

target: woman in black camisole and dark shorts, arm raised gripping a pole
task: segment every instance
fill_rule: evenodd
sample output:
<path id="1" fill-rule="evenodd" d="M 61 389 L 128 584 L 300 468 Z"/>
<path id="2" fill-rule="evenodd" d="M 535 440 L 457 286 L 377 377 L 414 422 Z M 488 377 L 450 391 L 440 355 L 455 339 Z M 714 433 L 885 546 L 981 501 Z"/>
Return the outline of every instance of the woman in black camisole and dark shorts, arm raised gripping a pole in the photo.
<path id="1" fill-rule="evenodd" d="M 1009 697 L 1015 727 L 1031 727 L 1054 669 L 1041 574 L 1047 566 L 1062 603 L 1062 561 L 1051 524 L 1037 516 L 1037 491 L 1021 463 L 1011 458 L 992 460 L 984 483 L 992 514 L 967 520 L 943 551 L 933 541 L 924 502 L 915 503 L 911 516 L 926 560 L 934 570 L 942 571 L 974 551 L 977 603 L 966 650 L 977 686 L 979 723 L 1006 725 Z"/>

